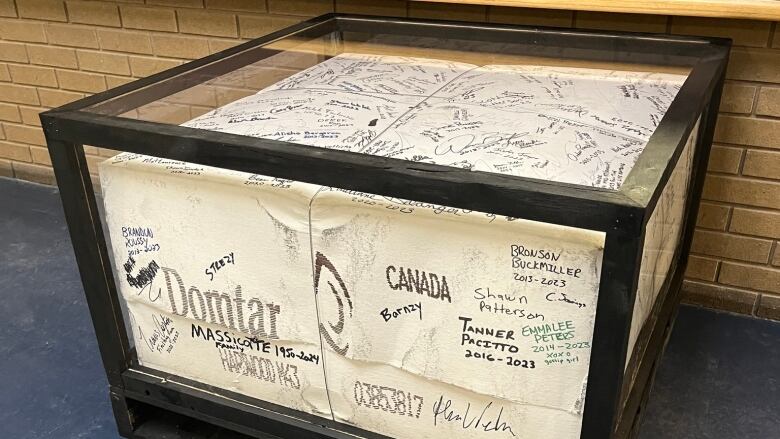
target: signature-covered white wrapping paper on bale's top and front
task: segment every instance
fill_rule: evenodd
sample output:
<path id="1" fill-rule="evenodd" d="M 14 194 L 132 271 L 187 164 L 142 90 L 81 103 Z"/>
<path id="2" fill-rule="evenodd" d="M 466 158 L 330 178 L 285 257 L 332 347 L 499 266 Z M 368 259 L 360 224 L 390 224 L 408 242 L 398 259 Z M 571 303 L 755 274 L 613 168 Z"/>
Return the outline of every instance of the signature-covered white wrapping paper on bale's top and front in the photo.
<path id="1" fill-rule="evenodd" d="M 342 54 L 186 125 L 615 189 L 683 80 Z M 141 364 L 389 436 L 579 437 L 603 233 L 138 154 L 100 177 Z"/>

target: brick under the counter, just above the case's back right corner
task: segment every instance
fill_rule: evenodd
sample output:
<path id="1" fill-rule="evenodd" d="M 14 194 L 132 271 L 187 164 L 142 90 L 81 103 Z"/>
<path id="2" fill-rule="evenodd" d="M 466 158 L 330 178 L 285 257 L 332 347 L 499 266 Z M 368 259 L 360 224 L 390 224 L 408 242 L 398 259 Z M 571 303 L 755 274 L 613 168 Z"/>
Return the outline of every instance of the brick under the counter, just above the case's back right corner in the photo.
<path id="1" fill-rule="evenodd" d="M 731 38 L 735 46 L 766 47 L 772 22 L 701 17 L 672 17 L 672 33 Z"/>

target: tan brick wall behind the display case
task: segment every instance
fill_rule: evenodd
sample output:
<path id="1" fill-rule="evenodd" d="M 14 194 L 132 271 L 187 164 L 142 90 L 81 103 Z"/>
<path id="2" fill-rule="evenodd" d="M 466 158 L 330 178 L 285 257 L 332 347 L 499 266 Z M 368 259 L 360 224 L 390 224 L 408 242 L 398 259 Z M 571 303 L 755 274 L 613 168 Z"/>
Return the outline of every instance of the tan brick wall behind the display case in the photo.
<path id="1" fill-rule="evenodd" d="M 777 23 L 404 0 L 0 0 L 0 176 L 54 184 L 37 114 L 331 12 L 734 40 L 686 300 L 780 318 Z M 90 162 L 110 152 L 87 148 Z"/>

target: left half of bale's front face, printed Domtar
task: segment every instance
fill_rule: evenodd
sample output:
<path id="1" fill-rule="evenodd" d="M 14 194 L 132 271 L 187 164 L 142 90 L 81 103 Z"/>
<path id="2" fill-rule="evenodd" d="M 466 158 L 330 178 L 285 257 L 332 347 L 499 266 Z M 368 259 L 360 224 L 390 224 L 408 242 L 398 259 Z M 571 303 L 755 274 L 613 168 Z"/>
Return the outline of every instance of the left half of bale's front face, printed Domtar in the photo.
<path id="1" fill-rule="evenodd" d="M 330 416 L 311 292 L 316 187 L 127 153 L 100 179 L 139 362 Z"/>

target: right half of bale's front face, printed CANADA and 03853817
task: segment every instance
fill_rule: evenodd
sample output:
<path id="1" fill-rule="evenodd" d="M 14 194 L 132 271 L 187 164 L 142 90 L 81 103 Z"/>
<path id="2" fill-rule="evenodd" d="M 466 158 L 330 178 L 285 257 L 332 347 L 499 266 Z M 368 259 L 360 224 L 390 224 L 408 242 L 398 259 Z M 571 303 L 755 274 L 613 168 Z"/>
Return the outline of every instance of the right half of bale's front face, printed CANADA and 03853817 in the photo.
<path id="1" fill-rule="evenodd" d="M 311 218 L 337 421 L 577 437 L 603 233 L 336 189 Z"/>

